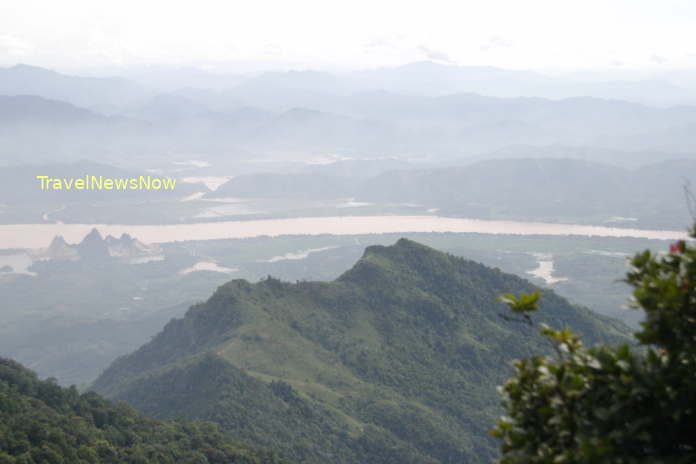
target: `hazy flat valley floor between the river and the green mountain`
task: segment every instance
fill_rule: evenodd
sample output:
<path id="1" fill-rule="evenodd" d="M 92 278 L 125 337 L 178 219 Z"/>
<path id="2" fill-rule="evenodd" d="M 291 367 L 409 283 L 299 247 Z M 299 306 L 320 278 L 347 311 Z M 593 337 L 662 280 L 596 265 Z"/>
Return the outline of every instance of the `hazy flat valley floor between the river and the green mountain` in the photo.
<path id="1" fill-rule="evenodd" d="M 186 240 L 162 243 L 152 251 L 140 247 L 116 253 L 112 248 L 114 256 L 104 258 L 97 251 L 91 259 L 78 259 L 67 245 L 54 246 L 48 260 L 45 254 L 15 250 L 0 255 L 0 267 L 13 267 L 13 272 L 0 272 L 7 302 L 0 347 L 42 376 L 86 386 L 106 364 L 146 342 L 230 279 L 256 282 L 271 275 L 290 282 L 330 281 L 365 247 L 403 236 L 533 280 L 634 327 L 640 315 L 622 309 L 629 292 L 619 282 L 628 269 L 627 256 L 665 246 L 663 240 L 627 237 L 399 233 Z M 98 250 L 106 246 L 102 240 Z M 552 278 L 567 280 L 535 278 L 539 253 L 551 255 Z M 39 339 L 44 347 L 33 341 Z"/>

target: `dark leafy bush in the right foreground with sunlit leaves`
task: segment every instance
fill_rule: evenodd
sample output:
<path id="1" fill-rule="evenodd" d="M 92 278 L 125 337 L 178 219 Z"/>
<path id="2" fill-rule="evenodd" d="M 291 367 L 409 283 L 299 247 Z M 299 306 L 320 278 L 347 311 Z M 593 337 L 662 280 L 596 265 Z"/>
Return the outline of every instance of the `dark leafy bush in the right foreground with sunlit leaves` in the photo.
<path id="1" fill-rule="evenodd" d="M 500 387 L 501 464 L 696 462 L 696 246 L 680 240 L 631 264 L 645 311 L 637 343 L 587 348 L 542 324 L 557 354 L 516 361 Z M 536 297 L 501 299 L 532 324 Z"/>

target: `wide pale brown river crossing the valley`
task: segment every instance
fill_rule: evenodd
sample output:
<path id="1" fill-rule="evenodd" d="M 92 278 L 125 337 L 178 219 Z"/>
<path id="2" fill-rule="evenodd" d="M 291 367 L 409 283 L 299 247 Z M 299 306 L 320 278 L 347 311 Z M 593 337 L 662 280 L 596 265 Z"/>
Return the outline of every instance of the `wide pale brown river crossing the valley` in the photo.
<path id="1" fill-rule="evenodd" d="M 279 235 L 361 235 L 407 232 L 475 232 L 512 235 L 580 235 L 635 237 L 658 240 L 686 238 L 674 230 L 625 229 L 618 227 L 551 224 L 542 222 L 487 221 L 439 216 L 340 216 L 259 219 L 171 225 L 114 224 L 11 224 L 0 225 L 0 249 L 43 248 L 56 235 L 75 243 L 92 229 L 102 235 L 127 232 L 145 243 L 212 240 Z"/>

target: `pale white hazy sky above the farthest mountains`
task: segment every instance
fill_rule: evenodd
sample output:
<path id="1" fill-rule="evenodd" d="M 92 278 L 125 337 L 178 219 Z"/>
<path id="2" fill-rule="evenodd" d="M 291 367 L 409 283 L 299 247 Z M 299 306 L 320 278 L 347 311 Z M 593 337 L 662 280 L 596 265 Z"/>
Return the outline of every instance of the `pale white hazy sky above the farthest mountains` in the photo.
<path id="1" fill-rule="evenodd" d="M 694 0 L 2 0 L 0 65 L 696 68 Z"/>

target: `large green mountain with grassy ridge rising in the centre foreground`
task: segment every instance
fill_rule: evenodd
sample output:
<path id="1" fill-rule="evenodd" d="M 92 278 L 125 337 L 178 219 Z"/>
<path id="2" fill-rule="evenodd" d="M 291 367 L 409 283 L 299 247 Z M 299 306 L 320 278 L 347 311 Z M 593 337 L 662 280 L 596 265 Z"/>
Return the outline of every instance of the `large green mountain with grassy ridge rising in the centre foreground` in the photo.
<path id="1" fill-rule="evenodd" d="M 502 318 L 525 280 L 405 239 L 333 282 L 233 280 L 93 388 L 161 418 L 217 422 L 304 463 L 491 462 L 495 386 L 548 351 Z M 537 316 L 588 343 L 619 323 L 545 292 Z"/>

